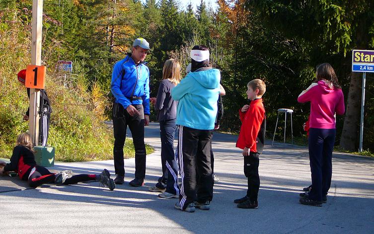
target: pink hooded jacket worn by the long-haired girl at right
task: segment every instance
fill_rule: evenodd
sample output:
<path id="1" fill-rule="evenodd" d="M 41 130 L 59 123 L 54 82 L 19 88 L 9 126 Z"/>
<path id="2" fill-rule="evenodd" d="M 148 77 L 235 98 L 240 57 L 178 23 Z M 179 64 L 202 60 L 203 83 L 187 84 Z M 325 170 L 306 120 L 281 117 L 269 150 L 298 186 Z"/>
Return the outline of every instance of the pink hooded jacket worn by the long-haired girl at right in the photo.
<path id="1" fill-rule="evenodd" d="M 310 102 L 310 128 L 335 128 L 335 113 L 345 112 L 341 89 L 331 88 L 324 80 L 312 83 L 298 97 L 299 103 Z"/>

